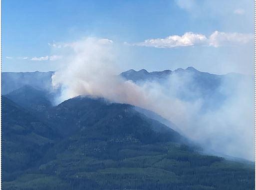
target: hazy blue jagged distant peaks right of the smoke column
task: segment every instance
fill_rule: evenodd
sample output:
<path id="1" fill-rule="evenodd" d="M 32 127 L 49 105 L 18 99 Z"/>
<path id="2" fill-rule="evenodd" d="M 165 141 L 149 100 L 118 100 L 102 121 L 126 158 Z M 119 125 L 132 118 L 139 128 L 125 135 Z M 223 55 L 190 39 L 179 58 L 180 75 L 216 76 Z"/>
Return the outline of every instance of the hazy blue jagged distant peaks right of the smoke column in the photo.
<path id="1" fill-rule="evenodd" d="M 157 72 L 131 69 L 120 76 L 141 86 L 147 83 L 157 84 L 162 87 L 165 95 L 182 101 L 200 100 L 202 111 L 218 109 L 227 98 L 237 92 L 237 84 L 243 78 L 241 74 L 217 75 L 198 71 L 194 67 Z M 229 90 L 225 90 L 227 87 Z"/>

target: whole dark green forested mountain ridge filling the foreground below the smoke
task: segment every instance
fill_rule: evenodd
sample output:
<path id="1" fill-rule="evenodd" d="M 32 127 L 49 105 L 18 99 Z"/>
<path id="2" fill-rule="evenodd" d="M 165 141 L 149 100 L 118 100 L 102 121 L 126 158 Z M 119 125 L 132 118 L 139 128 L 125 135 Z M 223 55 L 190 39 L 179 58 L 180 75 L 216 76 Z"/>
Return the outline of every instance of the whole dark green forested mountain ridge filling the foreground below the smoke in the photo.
<path id="1" fill-rule="evenodd" d="M 2 97 L 2 158 L 3 190 L 254 187 L 252 165 L 201 155 L 133 106 L 103 98 L 37 112 Z"/>

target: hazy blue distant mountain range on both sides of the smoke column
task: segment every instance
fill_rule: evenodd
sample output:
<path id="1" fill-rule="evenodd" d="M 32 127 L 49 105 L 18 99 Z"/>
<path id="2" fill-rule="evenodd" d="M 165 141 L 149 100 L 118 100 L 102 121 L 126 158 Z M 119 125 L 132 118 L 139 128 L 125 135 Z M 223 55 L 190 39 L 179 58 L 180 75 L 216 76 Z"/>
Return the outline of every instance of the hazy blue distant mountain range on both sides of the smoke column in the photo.
<path id="1" fill-rule="evenodd" d="M 55 104 L 55 97 L 61 93 L 61 89 L 53 89 L 51 84 L 53 74 L 53 71 L 2 72 L 1 94 L 7 95 L 13 90 L 29 85 L 37 90 L 45 91 L 45 96 L 48 97 L 51 103 Z M 201 72 L 194 67 L 153 72 L 148 72 L 145 69 L 139 71 L 130 69 L 122 72 L 120 76 L 142 86 L 145 83 L 156 83 L 162 87 L 166 96 L 173 96 L 182 101 L 200 100 L 202 111 L 212 111 L 221 107 L 227 98 L 238 91 L 236 84 L 243 77 L 243 75 L 236 73 L 216 75 Z M 225 90 L 227 86 L 229 87 L 228 91 Z M 11 94 L 8 96 L 11 96 Z M 43 109 L 39 107 L 36 109 Z"/>

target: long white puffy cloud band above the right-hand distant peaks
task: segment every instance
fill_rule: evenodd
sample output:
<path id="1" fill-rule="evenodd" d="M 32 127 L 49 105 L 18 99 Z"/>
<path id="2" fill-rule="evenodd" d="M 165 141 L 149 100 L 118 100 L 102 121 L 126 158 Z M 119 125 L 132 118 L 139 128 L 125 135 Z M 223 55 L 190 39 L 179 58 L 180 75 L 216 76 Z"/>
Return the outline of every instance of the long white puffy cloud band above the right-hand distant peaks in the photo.
<path id="1" fill-rule="evenodd" d="M 215 31 L 209 37 L 204 34 L 186 32 L 182 36 L 171 35 L 166 38 L 146 39 L 143 42 L 134 43 L 133 45 L 157 48 L 174 48 L 198 45 L 219 47 L 230 44 L 245 44 L 252 39 L 252 34 L 238 32 L 226 33 Z"/>

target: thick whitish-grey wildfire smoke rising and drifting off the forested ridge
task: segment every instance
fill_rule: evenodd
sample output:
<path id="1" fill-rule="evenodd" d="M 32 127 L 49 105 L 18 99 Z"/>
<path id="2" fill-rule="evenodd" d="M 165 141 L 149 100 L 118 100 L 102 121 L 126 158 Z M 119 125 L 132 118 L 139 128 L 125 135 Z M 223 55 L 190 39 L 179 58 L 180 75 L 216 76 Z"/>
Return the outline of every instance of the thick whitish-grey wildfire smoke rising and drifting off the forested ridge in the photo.
<path id="1" fill-rule="evenodd" d="M 135 84 L 118 76 L 121 70 L 115 62 L 116 50 L 111 40 L 85 38 L 65 44 L 65 48 L 62 68 L 52 76 L 53 86 L 62 88 L 58 102 L 78 95 L 91 95 L 136 105 L 174 122 L 183 134 L 205 149 L 254 159 L 252 78 L 223 82 L 221 90 L 229 98 L 218 109 L 204 110 L 207 100 L 187 101 L 177 95 L 183 83 L 191 80 L 190 75 L 172 75 L 164 85 L 158 82 Z M 198 92 L 188 90 L 185 93 L 195 93 L 197 97 Z"/>

